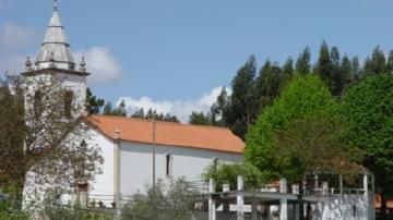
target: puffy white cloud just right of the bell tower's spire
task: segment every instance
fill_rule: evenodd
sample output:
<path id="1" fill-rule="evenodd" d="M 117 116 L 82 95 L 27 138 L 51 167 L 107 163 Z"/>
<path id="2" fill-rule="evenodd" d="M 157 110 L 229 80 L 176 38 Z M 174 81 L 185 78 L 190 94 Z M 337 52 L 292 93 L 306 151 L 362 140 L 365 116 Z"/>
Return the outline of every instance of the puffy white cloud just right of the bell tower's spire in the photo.
<path id="1" fill-rule="evenodd" d="M 93 47 L 88 50 L 74 52 L 76 63 L 85 57 L 87 72 L 92 73 L 88 81 L 106 83 L 121 77 L 121 65 L 107 47 Z"/>

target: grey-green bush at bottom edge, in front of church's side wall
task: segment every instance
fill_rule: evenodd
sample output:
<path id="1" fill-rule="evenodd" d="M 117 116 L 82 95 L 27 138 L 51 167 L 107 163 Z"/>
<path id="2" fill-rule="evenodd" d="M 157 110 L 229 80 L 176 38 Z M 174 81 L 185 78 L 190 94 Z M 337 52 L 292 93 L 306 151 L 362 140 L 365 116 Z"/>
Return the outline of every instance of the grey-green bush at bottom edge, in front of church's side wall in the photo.
<path id="1" fill-rule="evenodd" d="M 163 181 L 147 186 L 146 194 L 135 194 L 133 200 L 121 210 L 124 220 L 189 220 L 192 219 L 195 191 L 183 180 L 171 181 L 166 187 Z"/>

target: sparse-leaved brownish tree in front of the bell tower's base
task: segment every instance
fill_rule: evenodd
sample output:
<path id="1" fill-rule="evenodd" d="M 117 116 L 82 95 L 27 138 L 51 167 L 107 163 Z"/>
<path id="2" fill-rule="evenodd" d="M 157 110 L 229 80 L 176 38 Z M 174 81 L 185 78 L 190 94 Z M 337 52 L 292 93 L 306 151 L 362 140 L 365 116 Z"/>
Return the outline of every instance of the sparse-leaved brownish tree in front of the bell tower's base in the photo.
<path id="1" fill-rule="evenodd" d="M 59 103 L 64 103 L 66 93 L 50 80 L 0 82 L 0 183 L 14 186 L 17 199 L 22 200 L 23 188 L 26 198 L 34 198 L 36 186 L 67 191 L 75 178 L 90 181 L 99 171 L 99 150 L 82 144 L 90 140 L 82 118 L 64 120 Z M 70 112 L 80 108 L 72 102 Z M 82 169 L 82 163 L 88 166 Z M 27 172 L 34 179 L 27 179 Z"/>

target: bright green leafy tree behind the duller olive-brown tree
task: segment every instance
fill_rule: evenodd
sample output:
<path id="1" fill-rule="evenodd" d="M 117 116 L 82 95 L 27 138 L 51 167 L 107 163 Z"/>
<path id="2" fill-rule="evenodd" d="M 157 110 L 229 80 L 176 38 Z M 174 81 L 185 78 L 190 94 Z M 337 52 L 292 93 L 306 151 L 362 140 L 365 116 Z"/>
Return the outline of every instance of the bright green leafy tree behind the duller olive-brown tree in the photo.
<path id="1" fill-rule="evenodd" d="M 267 107 L 251 126 L 246 137 L 246 160 L 261 170 L 264 181 L 282 178 L 282 168 L 274 160 L 275 134 L 286 130 L 297 119 L 332 112 L 334 109 L 336 103 L 332 95 L 317 75 L 296 75 L 273 106 Z"/>

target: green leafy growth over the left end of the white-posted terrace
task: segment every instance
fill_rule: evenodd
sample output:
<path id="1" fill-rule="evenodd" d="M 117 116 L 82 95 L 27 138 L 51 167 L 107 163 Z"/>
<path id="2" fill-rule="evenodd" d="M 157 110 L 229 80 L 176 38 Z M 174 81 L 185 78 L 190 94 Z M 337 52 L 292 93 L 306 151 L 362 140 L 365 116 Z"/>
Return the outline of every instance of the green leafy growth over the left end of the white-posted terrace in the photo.
<path id="1" fill-rule="evenodd" d="M 258 188 L 263 183 L 261 171 L 251 163 L 213 162 L 205 169 L 202 178 L 205 181 L 213 179 L 216 192 L 222 192 L 223 184 L 229 184 L 230 190 L 235 191 L 238 175 L 242 175 L 246 190 Z"/>

